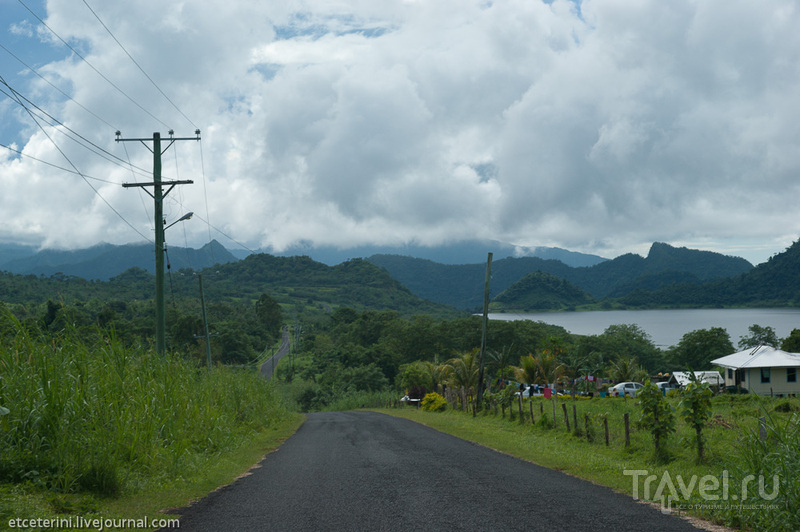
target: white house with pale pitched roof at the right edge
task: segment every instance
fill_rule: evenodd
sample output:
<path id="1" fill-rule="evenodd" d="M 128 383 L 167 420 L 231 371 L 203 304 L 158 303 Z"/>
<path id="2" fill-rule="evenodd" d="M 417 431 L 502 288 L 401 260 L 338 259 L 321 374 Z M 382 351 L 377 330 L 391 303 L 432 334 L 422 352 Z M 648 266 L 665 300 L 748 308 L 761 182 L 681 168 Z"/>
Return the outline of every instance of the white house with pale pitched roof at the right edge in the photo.
<path id="1" fill-rule="evenodd" d="M 725 370 L 725 385 L 747 389 L 759 395 L 800 394 L 797 369 L 800 353 L 787 353 L 770 346 L 758 346 L 711 361 Z"/>

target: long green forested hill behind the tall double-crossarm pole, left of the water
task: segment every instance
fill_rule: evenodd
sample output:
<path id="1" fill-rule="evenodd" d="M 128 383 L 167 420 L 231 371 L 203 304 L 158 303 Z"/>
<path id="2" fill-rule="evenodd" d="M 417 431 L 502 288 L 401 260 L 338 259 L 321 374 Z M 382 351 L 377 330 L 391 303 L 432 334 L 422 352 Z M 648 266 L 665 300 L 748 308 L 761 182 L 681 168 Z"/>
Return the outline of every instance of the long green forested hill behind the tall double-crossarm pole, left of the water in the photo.
<path id="1" fill-rule="evenodd" d="M 172 271 L 167 297 L 197 299 L 198 280 L 190 269 Z M 209 302 L 246 302 L 268 293 L 295 309 L 330 311 L 347 306 L 357 310 L 395 310 L 401 314 L 453 316 L 459 312 L 424 301 L 393 279 L 386 271 L 361 259 L 327 266 L 309 257 L 274 257 L 254 254 L 244 260 L 218 264 L 200 271 Z M 75 301 L 148 300 L 154 296 L 155 278 L 141 268 L 131 268 L 109 281 L 55 275 L 0 274 L 0 301 L 44 303 Z"/>

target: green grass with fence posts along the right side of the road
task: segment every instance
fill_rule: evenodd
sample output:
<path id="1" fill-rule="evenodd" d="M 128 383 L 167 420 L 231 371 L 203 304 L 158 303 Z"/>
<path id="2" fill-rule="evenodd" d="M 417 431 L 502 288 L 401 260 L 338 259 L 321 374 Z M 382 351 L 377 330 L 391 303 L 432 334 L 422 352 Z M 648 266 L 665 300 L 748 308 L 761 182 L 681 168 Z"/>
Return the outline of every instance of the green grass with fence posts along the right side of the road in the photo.
<path id="1" fill-rule="evenodd" d="M 671 397 L 668 402 L 677 409 L 678 400 Z M 798 400 L 720 395 L 713 399 L 712 408 L 703 429 L 706 454 L 702 463 L 697 462 L 693 447 L 695 431 L 682 420 L 667 439 L 665 452 L 656 456 L 650 432 L 638 423 L 640 408 L 634 398 L 534 398 L 524 402 L 522 416 L 518 404 L 511 409 L 513 416 L 508 409 L 503 415 L 492 407 L 477 415 L 453 408 L 379 411 L 636 494 L 665 511 L 668 505 L 673 513 L 745 530 L 800 530 Z M 766 420 L 763 437 L 760 418 Z M 608 445 L 604 420 L 608 421 Z M 524 486 L 536 479 L 517 481 Z"/>

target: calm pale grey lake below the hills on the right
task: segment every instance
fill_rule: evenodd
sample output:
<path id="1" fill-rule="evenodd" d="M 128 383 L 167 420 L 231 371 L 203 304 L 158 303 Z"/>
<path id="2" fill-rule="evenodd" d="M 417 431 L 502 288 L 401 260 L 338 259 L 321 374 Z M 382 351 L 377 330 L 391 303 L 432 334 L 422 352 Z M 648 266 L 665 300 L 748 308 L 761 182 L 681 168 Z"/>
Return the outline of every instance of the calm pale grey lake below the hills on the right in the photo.
<path id="1" fill-rule="evenodd" d="M 722 327 L 734 347 L 753 324 L 772 327 L 778 338 L 800 329 L 800 309 L 691 309 L 691 310 L 609 310 L 592 312 L 539 312 L 532 314 L 489 314 L 492 320 L 533 320 L 560 325 L 573 334 L 598 335 L 610 325 L 638 325 L 661 349 L 680 342 L 684 334 L 698 329 Z"/>

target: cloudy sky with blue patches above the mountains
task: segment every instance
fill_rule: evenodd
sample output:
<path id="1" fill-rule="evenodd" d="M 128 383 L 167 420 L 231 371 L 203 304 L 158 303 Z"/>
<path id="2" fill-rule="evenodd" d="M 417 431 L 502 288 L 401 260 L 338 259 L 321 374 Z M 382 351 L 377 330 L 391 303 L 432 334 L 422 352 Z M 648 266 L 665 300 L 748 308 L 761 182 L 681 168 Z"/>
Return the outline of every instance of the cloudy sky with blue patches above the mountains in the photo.
<path id="1" fill-rule="evenodd" d="M 41 20 L 37 19 L 37 16 Z M 800 7 L 0 0 L 0 242 L 495 239 L 754 264 L 800 234 Z M 48 29 L 49 27 L 49 29 Z M 491 250 L 489 250 L 491 251 Z"/>

